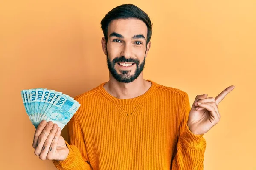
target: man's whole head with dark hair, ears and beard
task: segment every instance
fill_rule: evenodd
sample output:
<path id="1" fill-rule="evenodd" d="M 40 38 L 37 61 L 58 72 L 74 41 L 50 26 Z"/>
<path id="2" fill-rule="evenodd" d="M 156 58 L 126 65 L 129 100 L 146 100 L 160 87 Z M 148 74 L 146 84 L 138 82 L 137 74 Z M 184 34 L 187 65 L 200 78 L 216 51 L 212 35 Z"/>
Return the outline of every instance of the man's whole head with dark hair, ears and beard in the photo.
<path id="1" fill-rule="evenodd" d="M 152 23 L 148 15 L 137 6 L 123 4 L 106 14 L 101 28 L 102 49 L 110 73 L 119 82 L 134 81 L 143 71 L 151 45 Z"/>

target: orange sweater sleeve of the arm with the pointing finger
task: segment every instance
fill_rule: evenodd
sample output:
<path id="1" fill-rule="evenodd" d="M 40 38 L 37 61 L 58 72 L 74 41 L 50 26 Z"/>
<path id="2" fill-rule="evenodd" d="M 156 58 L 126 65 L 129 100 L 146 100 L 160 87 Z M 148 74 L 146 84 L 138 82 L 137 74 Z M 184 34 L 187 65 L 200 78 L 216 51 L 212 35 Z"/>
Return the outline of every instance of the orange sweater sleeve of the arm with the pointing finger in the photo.
<path id="1" fill-rule="evenodd" d="M 203 170 L 206 140 L 203 135 L 195 135 L 187 125 L 189 111 L 188 94 L 183 98 L 183 111 L 180 119 L 178 142 L 174 150 L 171 170 Z"/>

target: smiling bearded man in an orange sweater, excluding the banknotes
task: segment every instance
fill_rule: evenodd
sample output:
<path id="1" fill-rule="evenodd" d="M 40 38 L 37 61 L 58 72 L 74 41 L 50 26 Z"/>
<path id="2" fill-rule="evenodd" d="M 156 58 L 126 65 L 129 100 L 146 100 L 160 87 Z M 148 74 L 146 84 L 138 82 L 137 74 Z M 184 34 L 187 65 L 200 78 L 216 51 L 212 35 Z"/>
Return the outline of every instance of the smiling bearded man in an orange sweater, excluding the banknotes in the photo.
<path id="1" fill-rule="evenodd" d="M 75 97 L 81 104 L 68 122 L 70 143 L 58 125 L 42 121 L 33 147 L 59 170 L 202 170 L 203 138 L 220 120 L 215 99 L 143 79 L 152 23 L 137 6 L 113 8 L 101 21 L 109 81 Z"/>

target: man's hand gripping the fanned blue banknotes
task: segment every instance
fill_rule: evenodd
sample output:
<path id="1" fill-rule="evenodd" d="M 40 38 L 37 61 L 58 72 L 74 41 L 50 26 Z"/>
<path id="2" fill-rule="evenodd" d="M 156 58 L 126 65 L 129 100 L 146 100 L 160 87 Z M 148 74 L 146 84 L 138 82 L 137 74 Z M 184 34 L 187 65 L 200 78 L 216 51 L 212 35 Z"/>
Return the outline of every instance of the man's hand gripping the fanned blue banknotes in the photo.
<path id="1" fill-rule="evenodd" d="M 63 161 L 67 158 L 69 149 L 61 136 L 61 128 L 53 122 L 42 120 L 35 130 L 33 147 L 35 155 L 41 160 Z"/>

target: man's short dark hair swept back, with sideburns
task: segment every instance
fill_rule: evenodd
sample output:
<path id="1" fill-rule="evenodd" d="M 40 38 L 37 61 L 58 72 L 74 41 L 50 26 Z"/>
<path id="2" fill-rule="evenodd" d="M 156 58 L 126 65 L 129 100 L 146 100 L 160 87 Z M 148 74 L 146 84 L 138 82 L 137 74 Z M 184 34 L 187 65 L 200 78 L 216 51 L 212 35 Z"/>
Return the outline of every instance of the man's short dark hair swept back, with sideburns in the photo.
<path id="1" fill-rule="evenodd" d="M 111 11 L 108 12 L 108 14 L 105 15 L 105 17 L 101 20 L 101 28 L 103 30 L 104 37 L 106 39 L 106 42 L 108 42 L 108 25 L 112 20 L 116 19 L 128 19 L 128 18 L 137 18 L 139 20 L 142 20 L 148 27 L 148 34 L 147 34 L 147 41 L 146 45 L 151 39 L 152 35 L 152 23 L 150 21 L 150 18 L 148 17 L 148 14 L 146 14 L 144 11 L 142 11 L 140 8 L 133 4 L 122 4 L 120 6 L 117 6 L 116 8 L 113 8 Z"/>

